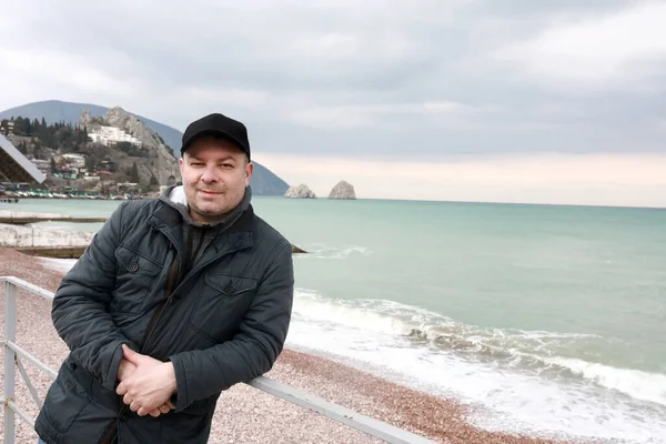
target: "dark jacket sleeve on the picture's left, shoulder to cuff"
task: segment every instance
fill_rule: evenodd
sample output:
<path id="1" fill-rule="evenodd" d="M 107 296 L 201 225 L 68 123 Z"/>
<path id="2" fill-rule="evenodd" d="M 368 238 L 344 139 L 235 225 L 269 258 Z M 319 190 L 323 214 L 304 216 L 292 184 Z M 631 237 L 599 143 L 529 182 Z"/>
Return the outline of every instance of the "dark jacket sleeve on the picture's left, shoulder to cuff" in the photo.
<path id="1" fill-rule="evenodd" d="M 122 343 L 132 345 L 111 319 L 107 306 L 115 285 L 114 252 L 120 242 L 123 202 L 56 292 L 51 317 L 71 357 L 109 389 L 114 390 Z"/>

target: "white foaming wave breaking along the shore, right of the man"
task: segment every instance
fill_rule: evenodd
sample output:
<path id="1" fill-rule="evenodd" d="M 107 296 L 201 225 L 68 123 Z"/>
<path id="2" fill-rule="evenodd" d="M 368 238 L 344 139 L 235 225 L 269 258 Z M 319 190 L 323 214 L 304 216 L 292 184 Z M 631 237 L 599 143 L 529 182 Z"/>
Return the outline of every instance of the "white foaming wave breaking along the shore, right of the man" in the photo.
<path id="1" fill-rule="evenodd" d="M 593 334 L 483 329 L 455 322 L 427 310 L 383 300 L 330 300 L 299 290 L 294 316 L 355 330 L 385 333 L 408 342 L 450 352 L 504 369 L 531 371 L 553 379 L 578 379 L 636 400 L 666 406 L 666 375 L 567 356 L 586 343 L 603 342 Z"/>

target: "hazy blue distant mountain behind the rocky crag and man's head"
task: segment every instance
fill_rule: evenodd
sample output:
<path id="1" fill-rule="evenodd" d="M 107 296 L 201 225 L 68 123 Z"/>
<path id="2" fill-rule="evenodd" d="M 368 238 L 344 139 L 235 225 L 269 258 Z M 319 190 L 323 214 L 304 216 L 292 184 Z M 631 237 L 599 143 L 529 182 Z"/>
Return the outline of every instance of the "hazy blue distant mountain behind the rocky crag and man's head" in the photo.
<path id="1" fill-rule="evenodd" d="M 11 119 L 12 117 L 38 119 L 44 118 L 47 123 L 64 122 L 78 124 L 83 111 L 88 110 L 91 117 L 102 117 L 109 112 L 110 108 L 100 107 L 91 103 L 73 103 L 63 102 L 60 100 L 46 100 L 41 102 L 28 103 L 21 107 L 11 108 L 0 111 L 1 119 Z M 168 127 L 154 120 L 147 119 L 142 115 L 130 112 L 131 115 L 143 122 L 148 128 L 157 132 L 164 139 L 164 142 L 179 157 L 179 148 L 183 133 L 179 130 Z M 268 168 L 254 163 L 254 174 L 250 181 L 252 193 L 255 195 L 283 195 L 289 189 L 289 184 L 275 175 Z"/>

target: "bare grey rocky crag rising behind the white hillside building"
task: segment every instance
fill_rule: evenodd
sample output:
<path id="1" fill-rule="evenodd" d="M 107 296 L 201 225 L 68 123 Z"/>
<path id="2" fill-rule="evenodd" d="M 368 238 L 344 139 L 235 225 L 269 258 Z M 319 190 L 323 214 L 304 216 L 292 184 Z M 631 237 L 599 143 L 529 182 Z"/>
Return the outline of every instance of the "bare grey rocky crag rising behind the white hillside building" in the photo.
<path id="1" fill-rule="evenodd" d="M 91 117 L 88 111 L 83 111 L 79 124 L 88 128 L 89 132 L 95 125 L 113 127 L 139 139 L 142 143 L 141 150 L 145 153 L 145 159 L 137 162 L 141 182 L 148 183 L 154 175 L 160 185 L 165 185 L 169 178 L 180 178 L 178 160 L 171 148 L 157 132 L 122 108 L 112 108 L 102 117 Z"/>

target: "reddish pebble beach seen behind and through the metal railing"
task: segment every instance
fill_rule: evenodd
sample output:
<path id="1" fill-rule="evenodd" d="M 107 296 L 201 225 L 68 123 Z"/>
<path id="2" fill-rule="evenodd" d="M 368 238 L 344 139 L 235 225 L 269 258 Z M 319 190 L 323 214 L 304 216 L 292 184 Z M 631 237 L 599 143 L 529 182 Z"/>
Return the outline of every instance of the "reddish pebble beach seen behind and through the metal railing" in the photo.
<path id="1" fill-rule="evenodd" d="M 21 254 L 14 249 L 0 248 L 0 275 L 14 275 L 49 291 L 56 291 L 63 273 L 47 268 L 41 261 L 37 262 L 34 258 Z M 4 289 L 0 289 L 0 293 L 3 292 Z M 68 350 L 52 326 L 50 302 L 19 292 L 17 307 L 19 344 L 47 365 L 58 369 Z M 3 304 L 0 311 L 3 323 Z M 3 361 L 3 356 L 1 360 Z M 34 366 L 30 364 L 26 366 L 38 393 L 43 396 L 50 379 Z M 476 413 L 474 407 L 465 406 L 454 398 L 434 396 L 391 382 L 346 365 L 333 356 L 324 357 L 319 353 L 285 347 L 273 369 L 265 375 L 435 442 L 453 444 L 578 442 L 567 437 L 553 440 L 478 428 L 470 422 L 470 415 Z M 31 401 L 30 393 L 18 372 L 17 403 L 29 414 L 37 414 L 37 405 Z M 17 420 L 18 443 L 34 442 L 36 437 L 28 424 Z M 209 442 L 380 443 L 382 441 L 245 384 L 238 384 L 220 397 Z"/>

